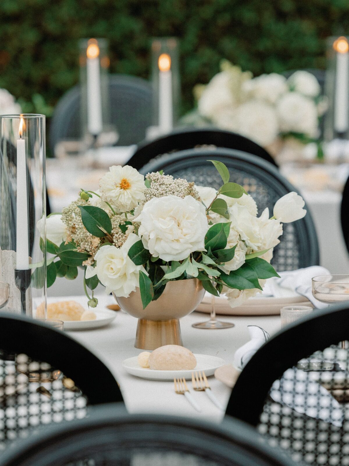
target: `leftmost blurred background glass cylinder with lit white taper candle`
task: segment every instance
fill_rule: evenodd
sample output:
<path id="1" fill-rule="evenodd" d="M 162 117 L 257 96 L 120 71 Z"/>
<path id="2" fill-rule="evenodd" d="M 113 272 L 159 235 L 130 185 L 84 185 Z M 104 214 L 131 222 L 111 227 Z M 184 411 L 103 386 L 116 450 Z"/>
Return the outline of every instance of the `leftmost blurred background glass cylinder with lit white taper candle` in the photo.
<path id="1" fill-rule="evenodd" d="M 110 122 L 107 40 L 81 39 L 79 62 L 83 138 L 87 145 L 109 145 L 113 136 L 110 133 L 114 132 L 114 144 L 118 137 Z M 104 139 L 107 139 L 107 144 Z"/>

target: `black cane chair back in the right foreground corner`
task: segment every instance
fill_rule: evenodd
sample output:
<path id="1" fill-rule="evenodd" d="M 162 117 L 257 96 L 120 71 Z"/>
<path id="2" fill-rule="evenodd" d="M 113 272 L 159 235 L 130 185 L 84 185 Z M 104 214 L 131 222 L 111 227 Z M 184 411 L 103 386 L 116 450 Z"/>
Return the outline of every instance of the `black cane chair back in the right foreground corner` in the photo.
<path id="1" fill-rule="evenodd" d="M 348 303 L 315 310 L 271 337 L 242 370 L 227 414 L 296 461 L 349 464 L 349 349 L 338 343 L 348 312 Z"/>

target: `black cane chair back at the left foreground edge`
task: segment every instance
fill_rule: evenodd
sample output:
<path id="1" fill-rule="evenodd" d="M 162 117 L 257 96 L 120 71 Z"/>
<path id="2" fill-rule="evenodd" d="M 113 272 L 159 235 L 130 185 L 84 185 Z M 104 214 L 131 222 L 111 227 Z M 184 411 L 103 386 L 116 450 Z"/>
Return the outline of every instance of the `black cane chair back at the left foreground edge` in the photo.
<path id="1" fill-rule="evenodd" d="M 119 386 L 88 349 L 34 319 L 0 314 L 0 450 L 110 402 L 122 402 Z"/>

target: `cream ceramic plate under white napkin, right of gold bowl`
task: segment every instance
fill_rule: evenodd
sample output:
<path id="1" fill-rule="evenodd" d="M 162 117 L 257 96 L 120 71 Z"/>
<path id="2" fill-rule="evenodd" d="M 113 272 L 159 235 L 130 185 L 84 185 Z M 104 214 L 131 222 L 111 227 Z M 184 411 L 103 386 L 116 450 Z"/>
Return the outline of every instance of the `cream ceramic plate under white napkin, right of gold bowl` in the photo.
<path id="1" fill-rule="evenodd" d="M 196 308 L 198 312 L 204 312 L 206 314 L 211 312 L 211 296 L 212 295 L 208 293 L 205 294 L 203 300 Z M 260 295 L 250 298 L 236 308 L 231 308 L 228 299 L 224 296 L 215 298 L 216 314 L 222 315 L 280 315 L 281 308 L 292 304 L 297 304 L 298 306 L 312 306 L 307 298 L 300 295 L 287 298 L 274 298 Z"/>

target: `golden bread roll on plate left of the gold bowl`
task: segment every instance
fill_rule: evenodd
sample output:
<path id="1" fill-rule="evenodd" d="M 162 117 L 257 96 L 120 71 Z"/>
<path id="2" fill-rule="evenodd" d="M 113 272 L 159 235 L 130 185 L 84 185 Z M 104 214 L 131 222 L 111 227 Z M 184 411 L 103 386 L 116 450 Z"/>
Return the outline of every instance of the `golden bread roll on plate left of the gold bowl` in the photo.
<path id="1" fill-rule="evenodd" d="M 45 319 L 45 307 L 40 305 L 36 309 L 36 317 Z M 60 301 L 47 304 L 47 319 L 58 319 L 67 321 L 95 320 L 96 315 L 85 309 L 76 301 Z"/>

